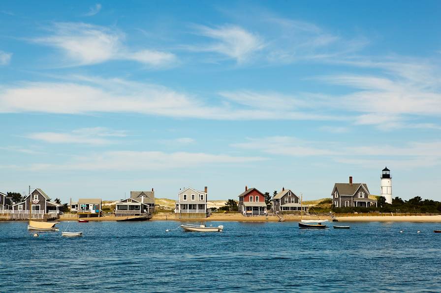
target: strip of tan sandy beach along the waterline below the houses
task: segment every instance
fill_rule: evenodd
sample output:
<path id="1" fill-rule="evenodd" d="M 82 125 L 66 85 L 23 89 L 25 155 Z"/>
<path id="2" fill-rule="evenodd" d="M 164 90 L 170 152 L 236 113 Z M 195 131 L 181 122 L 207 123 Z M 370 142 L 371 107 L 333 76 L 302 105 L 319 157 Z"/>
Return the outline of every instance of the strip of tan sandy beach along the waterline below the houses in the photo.
<path id="1" fill-rule="evenodd" d="M 117 217 L 113 215 L 106 215 L 102 217 L 91 217 L 84 218 L 90 221 L 116 221 Z M 302 219 L 317 219 L 317 216 L 313 215 L 303 215 Z M 328 219 L 328 216 L 320 216 L 320 219 Z M 441 222 L 441 215 L 385 215 L 385 216 L 342 216 L 337 217 L 340 222 Z M 60 221 L 75 221 L 76 217 L 66 217 L 62 216 Z M 239 221 L 239 222 L 278 222 L 279 218 L 277 216 L 254 216 L 254 217 L 245 217 L 240 213 L 213 213 L 210 217 L 205 219 L 177 219 L 175 218 L 174 213 L 158 213 L 155 214 L 151 221 Z M 300 216 L 298 215 L 285 215 L 284 221 L 300 221 Z"/>

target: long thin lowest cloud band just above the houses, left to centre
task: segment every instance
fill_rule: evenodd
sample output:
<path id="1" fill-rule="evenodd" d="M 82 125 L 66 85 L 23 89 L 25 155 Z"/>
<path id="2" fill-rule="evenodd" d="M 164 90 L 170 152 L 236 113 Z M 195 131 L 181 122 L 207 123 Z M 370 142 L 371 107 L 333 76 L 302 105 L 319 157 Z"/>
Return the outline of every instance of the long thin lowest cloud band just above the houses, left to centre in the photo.
<path id="1" fill-rule="evenodd" d="M 206 153 L 164 153 L 159 151 L 113 151 L 94 154 L 63 164 L 32 164 L 32 170 L 142 171 L 179 169 L 205 164 L 236 164 L 265 160 L 262 157 L 232 157 Z"/>

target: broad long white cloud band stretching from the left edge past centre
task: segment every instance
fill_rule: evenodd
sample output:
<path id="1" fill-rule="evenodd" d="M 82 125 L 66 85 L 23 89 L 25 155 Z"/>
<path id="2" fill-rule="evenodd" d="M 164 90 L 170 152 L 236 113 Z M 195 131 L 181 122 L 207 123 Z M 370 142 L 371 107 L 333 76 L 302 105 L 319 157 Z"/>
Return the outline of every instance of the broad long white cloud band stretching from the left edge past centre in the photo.
<path id="1" fill-rule="evenodd" d="M 299 101 L 288 101 L 282 95 L 274 101 L 280 108 L 267 107 L 270 99 L 252 94 L 247 101 L 243 92 L 234 97 L 229 92 L 227 101 L 219 105 L 207 104 L 186 93 L 164 86 L 121 79 L 100 79 L 84 76 L 65 77 L 65 82 L 25 82 L 0 89 L 0 112 L 44 112 L 85 114 L 96 112 L 133 112 L 168 117 L 188 117 L 217 120 L 338 120 L 322 115 L 314 109 L 285 110 L 283 102 L 300 107 Z M 247 93 L 248 95 L 249 93 Z M 240 96 L 241 95 L 241 96 Z M 263 99 L 263 101 L 260 101 Z M 212 100 L 213 101 L 213 100 Z M 229 103 L 232 101 L 234 103 Z M 247 107 L 244 107 L 247 106 Z"/>

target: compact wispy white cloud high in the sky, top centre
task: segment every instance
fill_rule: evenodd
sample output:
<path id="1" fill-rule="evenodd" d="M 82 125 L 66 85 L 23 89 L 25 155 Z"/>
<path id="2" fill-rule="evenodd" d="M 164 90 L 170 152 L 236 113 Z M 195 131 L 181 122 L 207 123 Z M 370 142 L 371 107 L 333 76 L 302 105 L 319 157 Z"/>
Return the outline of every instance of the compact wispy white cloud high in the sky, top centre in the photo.
<path id="1" fill-rule="evenodd" d="M 237 63 L 243 63 L 249 60 L 254 52 L 264 47 L 264 41 L 258 34 L 239 26 L 195 27 L 197 34 L 211 38 L 215 42 L 187 47 L 193 51 L 218 53 L 235 59 Z"/>

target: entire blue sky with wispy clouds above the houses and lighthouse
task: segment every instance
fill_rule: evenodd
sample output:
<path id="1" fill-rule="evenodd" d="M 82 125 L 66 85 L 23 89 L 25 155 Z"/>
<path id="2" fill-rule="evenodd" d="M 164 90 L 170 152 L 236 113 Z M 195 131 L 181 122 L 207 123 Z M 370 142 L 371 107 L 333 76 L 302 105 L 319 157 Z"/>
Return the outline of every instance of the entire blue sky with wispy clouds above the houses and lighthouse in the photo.
<path id="1" fill-rule="evenodd" d="M 3 1 L 0 191 L 441 200 L 440 1 Z"/>

